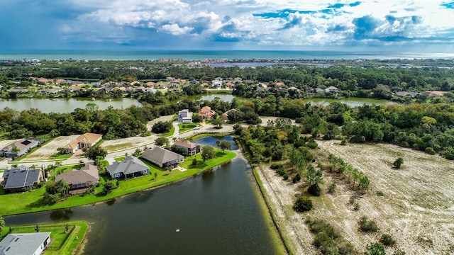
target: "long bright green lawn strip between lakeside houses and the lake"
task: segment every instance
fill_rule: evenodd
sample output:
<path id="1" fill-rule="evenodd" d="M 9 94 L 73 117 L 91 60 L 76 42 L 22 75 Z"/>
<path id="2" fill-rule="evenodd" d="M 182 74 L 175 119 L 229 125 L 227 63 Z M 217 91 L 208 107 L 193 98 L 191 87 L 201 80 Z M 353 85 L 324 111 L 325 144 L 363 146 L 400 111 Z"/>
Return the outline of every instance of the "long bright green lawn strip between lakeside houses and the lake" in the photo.
<path id="1" fill-rule="evenodd" d="M 102 190 L 102 186 L 96 187 L 95 191 L 98 193 L 96 194 L 89 194 L 86 196 L 71 196 L 66 200 L 62 200 L 55 205 L 43 205 L 41 203 L 41 198 L 45 193 L 45 186 L 41 188 L 37 188 L 32 191 L 26 191 L 24 193 L 12 193 L 12 194 L 4 194 L 3 189 L 0 186 L 0 215 L 13 215 L 18 213 L 25 213 L 25 212 L 38 212 L 43 210 L 52 210 L 52 209 L 59 209 L 59 208 L 70 208 L 78 205 L 87 205 L 96 202 L 100 202 L 102 200 L 108 200 L 110 198 L 116 198 L 118 196 L 124 196 L 128 193 L 133 193 L 136 191 L 141 191 L 147 188 L 153 188 L 157 186 L 164 185 L 166 183 L 172 183 L 174 181 L 179 181 L 181 179 L 185 179 L 189 176 L 193 176 L 201 171 L 206 169 L 210 169 L 218 164 L 222 164 L 223 162 L 227 162 L 233 157 L 235 157 L 234 152 L 226 151 L 223 153 L 220 152 L 219 156 L 215 159 L 207 160 L 203 165 L 198 164 L 197 167 L 189 166 L 192 164 L 192 157 L 188 157 L 185 159 L 185 162 L 180 164 L 180 166 L 186 168 L 188 171 L 167 171 L 164 169 L 160 169 L 153 164 L 145 161 L 150 167 L 150 174 L 145 176 L 140 176 L 135 179 L 128 179 L 128 180 L 121 180 L 119 181 L 120 186 L 115 188 L 114 191 L 109 193 L 107 196 L 99 196 L 99 193 Z M 198 154 L 198 160 L 201 161 L 201 155 Z M 72 167 L 64 168 L 62 167 L 62 171 L 69 171 Z M 59 172 L 60 169 L 56 169 L 55 171 Z M 53 173 L 52 173 L 53 174 Z M 156 175 L 155 175 L 156 174 Z M 156 177 L 155 177 L 156 176 Z M 105 176 L 100 176 L 104 178 Z M 100 180 L 101 183 L 104 181 Z"/>

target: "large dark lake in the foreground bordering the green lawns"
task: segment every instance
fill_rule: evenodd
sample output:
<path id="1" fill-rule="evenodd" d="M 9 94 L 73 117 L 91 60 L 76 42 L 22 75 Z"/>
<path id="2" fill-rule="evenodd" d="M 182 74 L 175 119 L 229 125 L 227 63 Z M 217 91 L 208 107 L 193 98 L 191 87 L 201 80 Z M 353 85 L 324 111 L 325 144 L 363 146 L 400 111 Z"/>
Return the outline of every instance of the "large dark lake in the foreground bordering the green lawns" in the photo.
<path id="1" fill-rule="evenodd" d="M 231 137 L 227 137 L 231 141 Z M 216 144 L 216 138 L 196 140 Z M 247 162 L 151 191 L 52 212 L 5 217 L 7 225 L 90 223 L 84 254 L 279 254 L 276 233 Z M 181 229 L 175 232 L 175 229 Z"/>

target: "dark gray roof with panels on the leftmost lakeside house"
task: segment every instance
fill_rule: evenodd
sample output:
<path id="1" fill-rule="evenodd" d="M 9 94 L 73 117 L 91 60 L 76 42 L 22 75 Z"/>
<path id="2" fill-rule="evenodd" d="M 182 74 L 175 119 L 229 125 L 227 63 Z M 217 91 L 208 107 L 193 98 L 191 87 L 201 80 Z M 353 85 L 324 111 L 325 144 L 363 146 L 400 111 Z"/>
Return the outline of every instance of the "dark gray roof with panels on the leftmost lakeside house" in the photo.
<path id="1" fill-rule="evenodd" d="M 40 169 L 27 169 L 26 166 L 20 166 L 15 169 L 9 169 L 4 172 L 6 180 L 4 188 L 23 188 L 32 186 L 40 178 Z"/>

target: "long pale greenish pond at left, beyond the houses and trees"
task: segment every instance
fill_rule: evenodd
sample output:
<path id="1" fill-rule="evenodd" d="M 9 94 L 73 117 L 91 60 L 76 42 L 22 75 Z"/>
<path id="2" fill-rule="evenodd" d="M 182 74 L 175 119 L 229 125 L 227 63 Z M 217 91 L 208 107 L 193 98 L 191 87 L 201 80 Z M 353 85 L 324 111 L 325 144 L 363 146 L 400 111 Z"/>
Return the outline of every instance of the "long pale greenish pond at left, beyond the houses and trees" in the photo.
<path id="1" fill-rule="evenodd" d="M 109 106 L 116 109 L 142 106 L 140 102 L 133 98 L 96 98 L 95 100 L 93 98 L 0 98 L 0 109 L 9 107 L 17 111 L 24 111 L 30 108 L 37 108 L 43 113 L 71 113 L 75 108 L 85 108 L 87 103 L 96 103 L 101 110 L 109 108 Z"/>

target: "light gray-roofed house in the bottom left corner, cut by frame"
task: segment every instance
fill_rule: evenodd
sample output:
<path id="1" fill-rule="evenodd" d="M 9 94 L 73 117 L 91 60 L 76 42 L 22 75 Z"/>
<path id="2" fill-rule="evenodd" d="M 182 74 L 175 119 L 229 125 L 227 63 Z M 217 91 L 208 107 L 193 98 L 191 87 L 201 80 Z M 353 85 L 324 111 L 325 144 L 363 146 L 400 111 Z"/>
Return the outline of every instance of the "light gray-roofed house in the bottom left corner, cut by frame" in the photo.
<path id="1" fill-rule="evenodd" d="M 50 232 L 8 234 L 0 242 L 0 254 L 39 255 L 48 244 L 50 244 Z"/>

